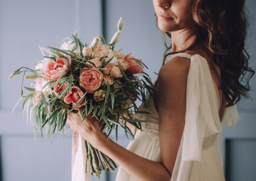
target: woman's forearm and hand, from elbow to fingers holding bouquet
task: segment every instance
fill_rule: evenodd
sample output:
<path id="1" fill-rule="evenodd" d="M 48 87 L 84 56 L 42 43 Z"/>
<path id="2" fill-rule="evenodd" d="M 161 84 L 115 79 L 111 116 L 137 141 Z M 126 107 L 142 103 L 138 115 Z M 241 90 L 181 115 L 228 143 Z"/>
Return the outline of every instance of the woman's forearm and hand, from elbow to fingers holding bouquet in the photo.
<path id="1" fill-rule="evenodd" d="M 171 177 L 162 163 L 140 157 L 108 139 L 98 126 L 97 120 L 89 117 L 82 121 L 77 113 L 69 113 L 67 124 L 81 137 L 89 141 L 105 155 L 108 155 L 132 177 L 140 181 L 170 181 Z"/>

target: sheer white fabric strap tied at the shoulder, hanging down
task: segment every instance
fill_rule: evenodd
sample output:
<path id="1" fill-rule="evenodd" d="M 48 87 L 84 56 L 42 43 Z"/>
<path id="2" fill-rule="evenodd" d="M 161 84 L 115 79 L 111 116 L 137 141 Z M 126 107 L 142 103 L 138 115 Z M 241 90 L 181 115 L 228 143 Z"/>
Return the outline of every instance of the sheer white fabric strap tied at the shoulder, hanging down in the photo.
<path id="1" fill-rule="evenodd" d="M 187 77 L 182 160 L 200 160 L 204 137 L 221 131 L 218 89 L 207 60 L 192 55 Z"/>

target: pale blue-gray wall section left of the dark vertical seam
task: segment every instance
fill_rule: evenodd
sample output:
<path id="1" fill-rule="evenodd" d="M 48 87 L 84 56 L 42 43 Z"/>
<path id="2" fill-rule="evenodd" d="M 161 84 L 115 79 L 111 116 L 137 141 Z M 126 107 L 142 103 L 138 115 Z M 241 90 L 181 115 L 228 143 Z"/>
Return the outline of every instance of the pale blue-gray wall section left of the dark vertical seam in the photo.
<path id="1" fill-rule="evenodd" d="M 92 18 L 93 17 L 93 18 Z M 0 0 L 0 153 L 3 181 L 70 181 L 71 133 L 54 137 L 38 135 L 21 115 L 21 75 L 8 79 L 20 68 L 33 68 L 43 59 L 38 45 L 57 42 L 79 31 L 82 41 L 101 33 L 99 0 Z M 90 43 L 90 42 L 89 42 Z M 31 81 L 26 81 L 31 83 Z M 29 86 L 29 84 L 26 84 Z M 26 93 L 26 91 L 24 91 Z M 103 177 L 104 178 L 104 177 Z"/>

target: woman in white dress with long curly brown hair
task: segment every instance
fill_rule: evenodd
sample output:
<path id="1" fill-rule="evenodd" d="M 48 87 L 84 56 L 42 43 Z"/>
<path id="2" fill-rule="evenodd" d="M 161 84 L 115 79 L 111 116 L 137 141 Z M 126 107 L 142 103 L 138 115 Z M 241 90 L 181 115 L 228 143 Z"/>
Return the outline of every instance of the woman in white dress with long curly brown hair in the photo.
<path id="1" fill-rule="evenodd" d="M 151 114 L 138 115 L 148 122 L 128 149 L 107 139 L 93 117 L 69 113 L 70 127 L 120 166 L 117 181 L 225 180 L 214 142 L 223 117 L 236 121 L 234 105 L 248 96 L 254 74 L 244 50 L 244 0 L 235 1 L 153 0 L 172 46 L 155 83 L 159 97 L 148 95 Z"/>

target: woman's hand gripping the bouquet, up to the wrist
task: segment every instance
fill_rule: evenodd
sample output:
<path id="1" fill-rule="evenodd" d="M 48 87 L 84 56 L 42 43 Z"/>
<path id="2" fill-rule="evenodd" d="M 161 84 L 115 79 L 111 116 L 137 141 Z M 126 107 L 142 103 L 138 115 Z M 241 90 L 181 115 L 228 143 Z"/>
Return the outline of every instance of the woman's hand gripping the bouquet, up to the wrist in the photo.
<path id="1" fill-rule="evenodd" d="M 88 115 L 83 120 L 81 110 L 78 113 L 67 113 L 67 124 L 91 144 L 96 142 L 98 135 L 101 133 L 98 120 L 95 117 L 91 117 L 91 115 Z"/>

